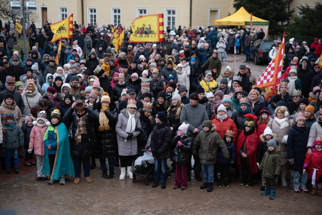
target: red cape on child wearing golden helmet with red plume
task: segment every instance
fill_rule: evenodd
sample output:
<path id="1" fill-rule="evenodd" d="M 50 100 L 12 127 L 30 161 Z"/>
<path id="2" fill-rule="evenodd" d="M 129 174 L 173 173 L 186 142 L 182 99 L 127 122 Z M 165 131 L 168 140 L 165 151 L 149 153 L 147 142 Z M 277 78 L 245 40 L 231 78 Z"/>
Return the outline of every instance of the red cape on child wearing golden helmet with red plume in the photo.
<path id="1" fill-rule="evenodd" d="M 238 169 L 241 170 L 241 155 L 239 154 L 239 150 L 242 148 L 242 144 L 244 143 L 246 139 L 246 150 L 247 150 L 247 154 L 248 154 L 248 161 L 249 161 L 249 165 L 251 167 L 251 174 L 255 174 L 258 172 L 258 167 L 256 164 L 256 155 L 257 155 L 257 146 L 258 146 L 258 139 L 257 139 L 257 132 L 256 130 L 254 131 L 254 133 L 252 133 L 251 135 L 245 136 L 244 132 L 242 132 L 237 140 L 237 144 L 236 144 L 236 165 L 238 166 Z"/>

